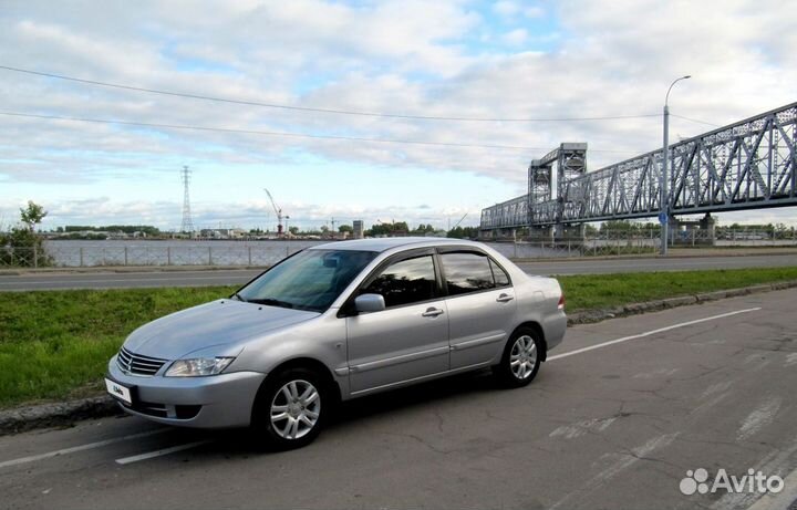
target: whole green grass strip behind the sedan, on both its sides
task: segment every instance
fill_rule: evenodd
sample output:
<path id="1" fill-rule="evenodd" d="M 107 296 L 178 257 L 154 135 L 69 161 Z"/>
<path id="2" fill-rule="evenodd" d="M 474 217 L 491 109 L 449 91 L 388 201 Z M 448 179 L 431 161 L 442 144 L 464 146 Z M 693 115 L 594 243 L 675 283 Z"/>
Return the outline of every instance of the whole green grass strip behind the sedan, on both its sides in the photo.
<path id="1" fill-rule="evenodd" d="M 569 312 L 783 280 L 797 280 L 797 267 L 559 278 Z M 133 330 L 232 290 L 0 292 L 0 408 L 97 393 Z"/>

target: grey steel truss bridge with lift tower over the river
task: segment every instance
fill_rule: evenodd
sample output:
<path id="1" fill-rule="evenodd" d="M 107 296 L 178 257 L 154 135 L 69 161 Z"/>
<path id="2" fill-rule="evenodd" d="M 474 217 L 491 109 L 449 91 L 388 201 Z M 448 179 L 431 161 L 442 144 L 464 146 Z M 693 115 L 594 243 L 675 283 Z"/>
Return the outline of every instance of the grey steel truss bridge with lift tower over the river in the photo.
<path id="1" fill-rule="evenodd" d="M 796 145 L 797 103 L 670 145 L 670 214 L 797 206 Z M 482 210 L 480 229 L 655 217 L 662 154 L 587 173 L 587 144 L 561 144 L 531 162 L 527 195 Z"/>

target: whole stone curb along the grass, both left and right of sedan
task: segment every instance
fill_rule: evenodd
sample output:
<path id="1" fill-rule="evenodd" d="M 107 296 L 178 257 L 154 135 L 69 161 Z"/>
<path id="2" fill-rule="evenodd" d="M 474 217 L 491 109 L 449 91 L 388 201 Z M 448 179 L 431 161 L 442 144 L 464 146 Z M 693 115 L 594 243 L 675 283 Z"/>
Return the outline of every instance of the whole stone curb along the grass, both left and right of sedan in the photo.
<path id="1" fill-rule="evenodd" d="M 568 325 L 590 324 L 607 319 L 636 315 L 646 312 L 685 306 L 707 301 L 718 301 L 739 295 L 784 290 L 797 287 L 797 280 L 775 282 L 765 285 L 752 285 L 741 289 L 706 292 L 701 294 L 681 295 L 663 300 L 630 303 L 604 310 L 584 310 L 568 315 Z M 121 415 L 122 409 L 116 402 L 107 396 L 95 396 L 80 400 L 69 400 L 53 404 L 17 407 L 0 412 L 0 436 L 19 434 L 27 430 L 45 427 L 70 426 L 81 419 L 96 419 L 107 416 Z"/>

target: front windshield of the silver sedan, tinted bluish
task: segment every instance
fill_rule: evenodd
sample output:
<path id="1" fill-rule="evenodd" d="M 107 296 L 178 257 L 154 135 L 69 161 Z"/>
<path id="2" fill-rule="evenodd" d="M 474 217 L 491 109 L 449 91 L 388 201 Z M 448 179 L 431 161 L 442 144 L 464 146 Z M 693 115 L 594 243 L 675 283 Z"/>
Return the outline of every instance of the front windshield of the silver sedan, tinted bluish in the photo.
<path id="1" fill-rule="evenodd" d="M 249 303 L 322 312 L 376 253 L 304 250 L 269 269 L 234 296 Z"/>

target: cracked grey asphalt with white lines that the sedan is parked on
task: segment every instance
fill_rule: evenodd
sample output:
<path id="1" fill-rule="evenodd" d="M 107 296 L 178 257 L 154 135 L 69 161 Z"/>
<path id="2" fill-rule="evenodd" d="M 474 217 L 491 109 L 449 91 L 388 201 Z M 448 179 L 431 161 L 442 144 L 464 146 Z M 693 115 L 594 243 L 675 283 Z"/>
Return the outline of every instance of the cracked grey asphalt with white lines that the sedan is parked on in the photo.
<path id="1" fill-rule="evenodd" d="M 1 437 L 2 507 L 785 509 L 795 302 L 786 290 L 576 326 L 526 388 L 475 374 L 355 400 L 294 451 L 133 417 Z M 700 468 L 710 485 L 753 469 L 784 488 L 682 493 Z"/>

